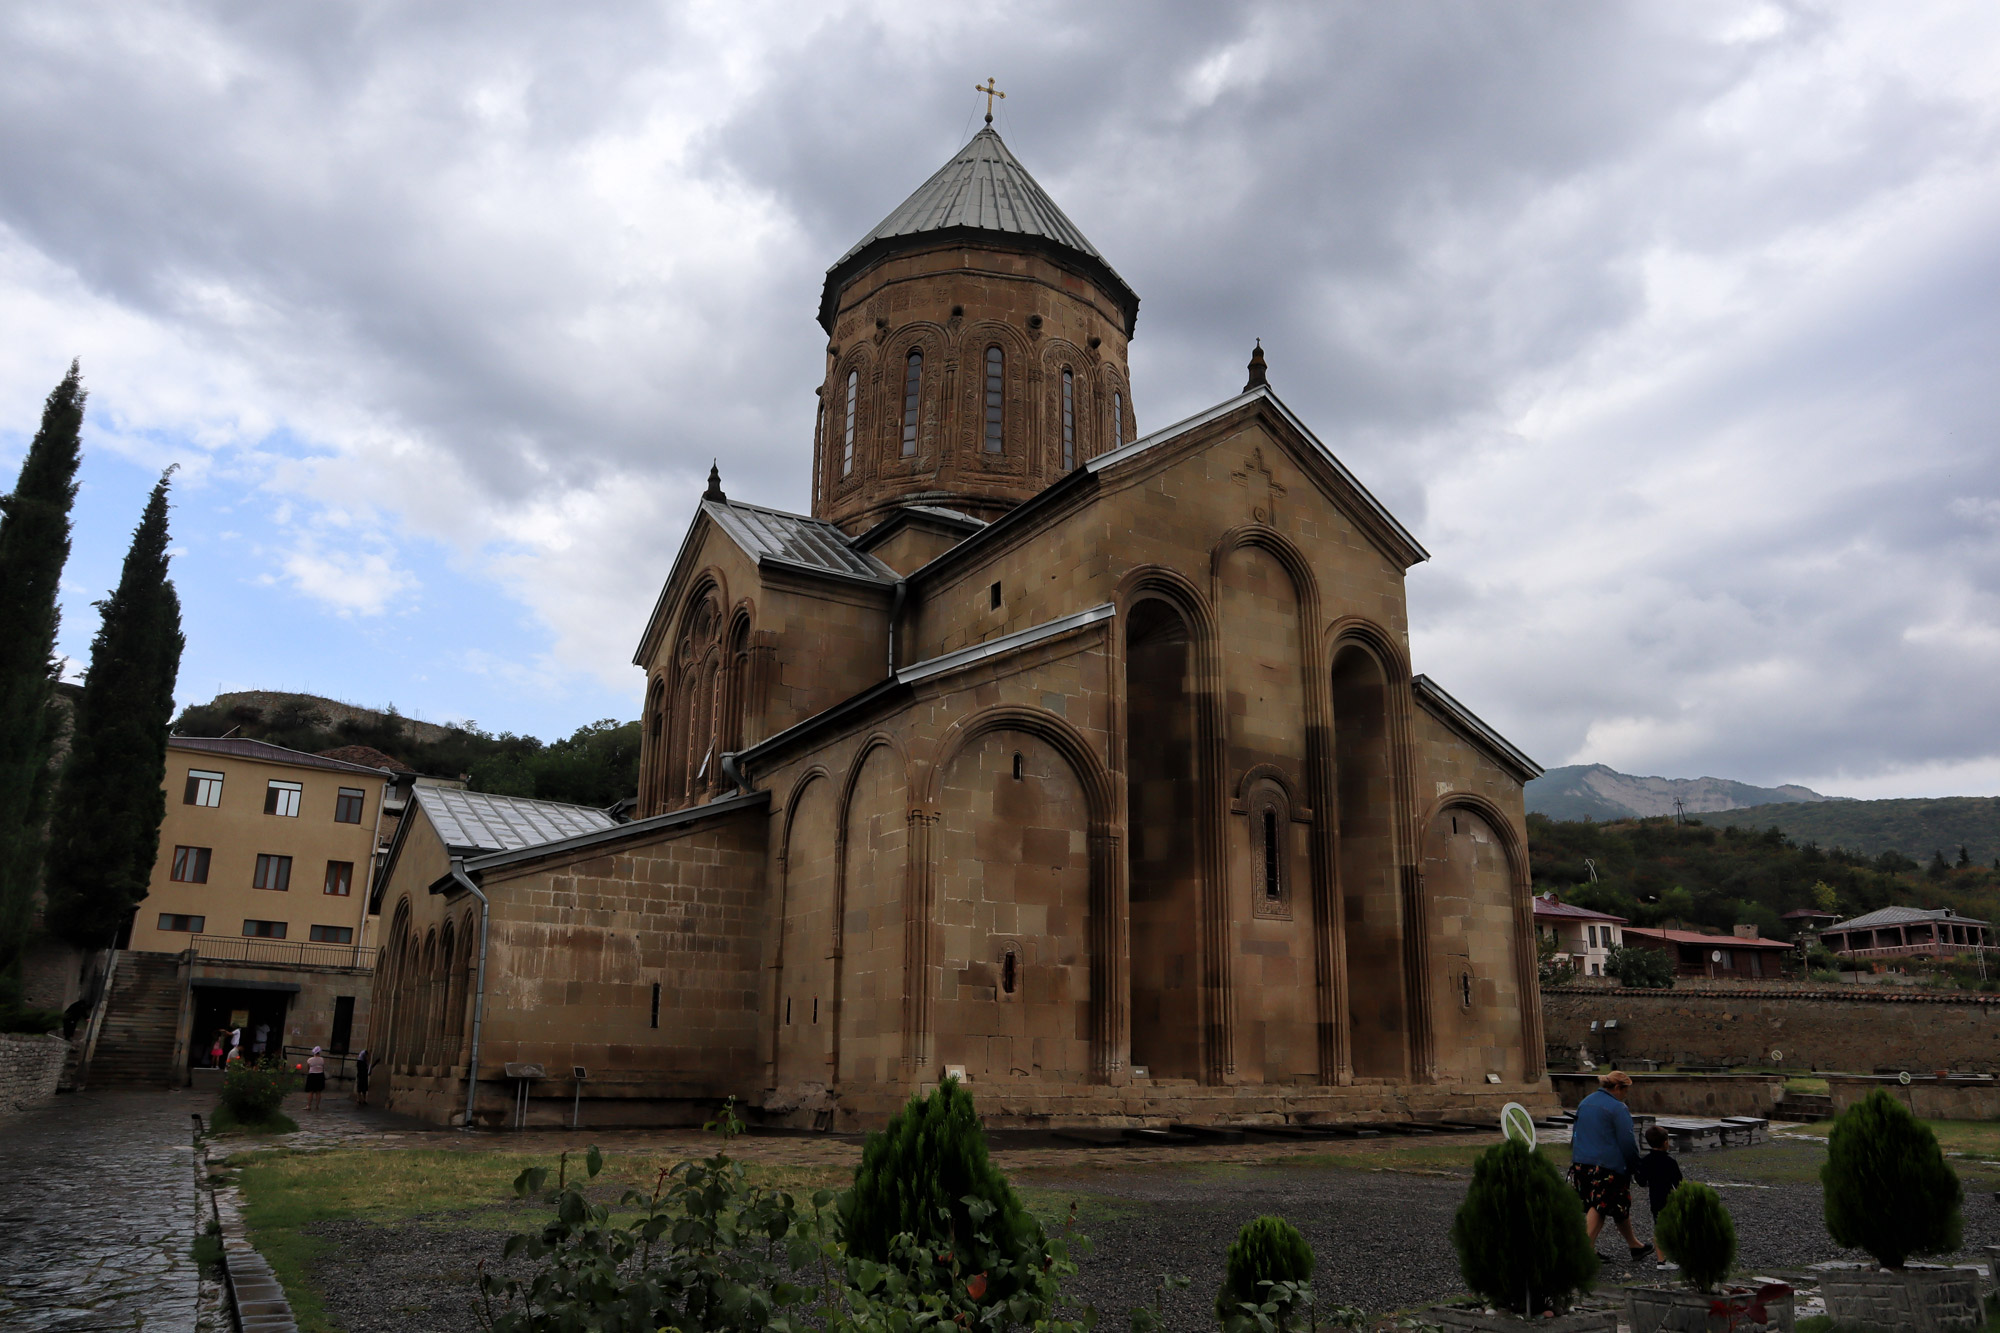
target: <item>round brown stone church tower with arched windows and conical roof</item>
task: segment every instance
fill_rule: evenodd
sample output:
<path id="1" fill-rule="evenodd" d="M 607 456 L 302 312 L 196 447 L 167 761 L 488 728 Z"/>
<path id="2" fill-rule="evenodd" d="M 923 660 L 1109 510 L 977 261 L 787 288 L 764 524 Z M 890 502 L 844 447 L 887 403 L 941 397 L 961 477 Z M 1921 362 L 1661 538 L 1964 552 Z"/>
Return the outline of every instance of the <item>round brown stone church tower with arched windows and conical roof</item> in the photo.
<path id="1" fill-rule="evenodd" d="M 812 512 L 990 522 L 1136 434 L 1138 296 L 992 130 L 832 268 Z"/>

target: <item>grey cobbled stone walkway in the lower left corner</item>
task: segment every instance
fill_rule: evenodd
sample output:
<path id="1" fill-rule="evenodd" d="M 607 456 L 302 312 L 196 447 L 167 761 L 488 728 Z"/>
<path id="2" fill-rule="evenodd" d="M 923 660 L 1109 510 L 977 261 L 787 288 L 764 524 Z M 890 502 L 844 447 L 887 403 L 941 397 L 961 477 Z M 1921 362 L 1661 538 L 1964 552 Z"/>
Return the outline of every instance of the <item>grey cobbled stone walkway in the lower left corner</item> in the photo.
<path id="1" fill-rule="evenodd" d="M 186 1093 L 78 1093 L 0 1125 L 0 1329 L 194 1331 Z"/>

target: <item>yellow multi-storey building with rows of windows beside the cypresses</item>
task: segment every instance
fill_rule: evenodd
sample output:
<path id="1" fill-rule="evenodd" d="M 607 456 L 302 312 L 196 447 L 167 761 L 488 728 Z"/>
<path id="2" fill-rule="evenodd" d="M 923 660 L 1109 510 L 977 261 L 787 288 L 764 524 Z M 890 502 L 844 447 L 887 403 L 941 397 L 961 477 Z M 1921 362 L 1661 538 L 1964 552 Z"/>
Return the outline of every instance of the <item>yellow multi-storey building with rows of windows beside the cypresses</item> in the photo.
<path id="1" fill-rule="evenodd" d="M 366 1045 L 384 769 L 170 737 L 166 821 L 92 1065 L 186 1081 L 218 1031 L 284 1055 Z M 344 1063 L 342 1063 L 344 1069 Z"/>

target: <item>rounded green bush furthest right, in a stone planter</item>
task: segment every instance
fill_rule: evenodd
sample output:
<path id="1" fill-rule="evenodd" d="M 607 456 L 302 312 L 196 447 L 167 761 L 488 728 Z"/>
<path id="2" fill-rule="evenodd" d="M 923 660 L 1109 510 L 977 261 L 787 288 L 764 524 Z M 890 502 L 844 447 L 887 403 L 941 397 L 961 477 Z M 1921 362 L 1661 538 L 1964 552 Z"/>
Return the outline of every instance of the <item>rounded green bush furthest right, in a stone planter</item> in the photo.
<path id="1" fill-rule="evenodd" d="M 1886 1269 L 1958 1249 L 1966 1197 L 1958 1173 L 1944 1163 L 1930 1125 L 1884 1089 L 1834 1121 L 1820 1187 L 1834 1243 L 1866 1249 Z"/>

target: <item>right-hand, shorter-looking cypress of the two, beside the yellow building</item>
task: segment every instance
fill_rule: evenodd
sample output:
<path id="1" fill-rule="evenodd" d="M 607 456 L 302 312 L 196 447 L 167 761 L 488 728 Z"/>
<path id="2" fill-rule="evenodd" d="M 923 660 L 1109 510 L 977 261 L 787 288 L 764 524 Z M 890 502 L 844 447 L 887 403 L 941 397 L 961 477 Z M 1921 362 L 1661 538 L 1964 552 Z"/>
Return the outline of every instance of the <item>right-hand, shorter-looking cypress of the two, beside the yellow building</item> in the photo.
<path id="1" fill-rule="evenodd" d="M 166 576 L 168 468 L 102 602 L 90 675 L 48 839 L 48 927 L 104 949 L 146 897 L 166 819 L 166 729 L 180 675 L 180 596 Z"/>

